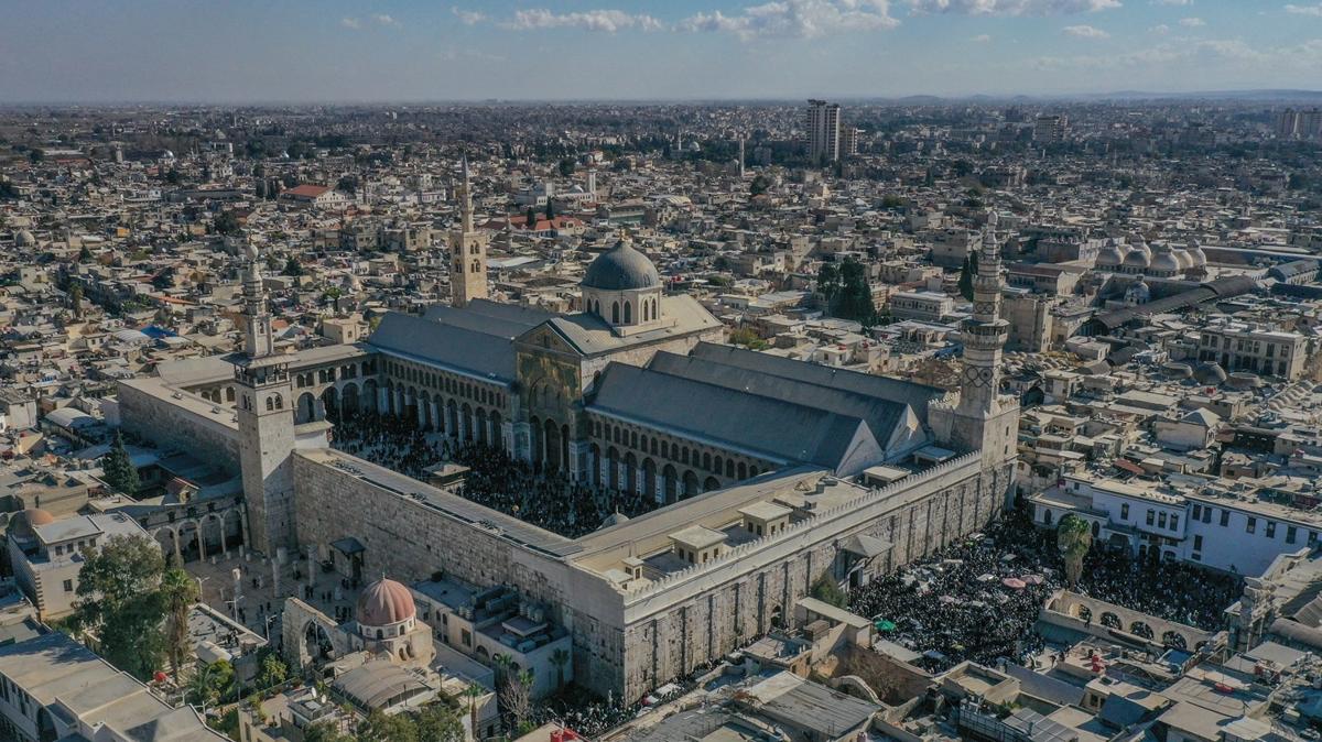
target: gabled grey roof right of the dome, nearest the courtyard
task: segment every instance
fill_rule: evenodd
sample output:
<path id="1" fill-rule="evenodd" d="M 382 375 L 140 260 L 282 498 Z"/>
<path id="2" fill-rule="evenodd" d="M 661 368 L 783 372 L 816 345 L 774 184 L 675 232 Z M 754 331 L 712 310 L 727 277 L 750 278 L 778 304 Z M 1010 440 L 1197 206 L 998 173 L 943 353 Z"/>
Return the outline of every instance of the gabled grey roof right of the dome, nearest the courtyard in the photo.
<path id="1" fill-rule="evenodd" d="M 724 387 L 624 363 L 605 367 L 587 408 L 754 455 L 816 463 L 832 471 L 853 469 L 858 457 L 869 465 L 880 457 L 880 446 L 858 417 L 730 393 Z"/>

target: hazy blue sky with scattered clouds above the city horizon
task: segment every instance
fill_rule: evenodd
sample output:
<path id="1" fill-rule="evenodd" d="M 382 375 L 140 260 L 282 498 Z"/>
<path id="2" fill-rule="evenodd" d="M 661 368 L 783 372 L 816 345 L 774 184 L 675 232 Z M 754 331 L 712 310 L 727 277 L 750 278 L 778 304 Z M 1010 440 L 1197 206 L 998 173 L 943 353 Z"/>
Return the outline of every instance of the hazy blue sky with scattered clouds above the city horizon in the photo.
<path id="1" fill-rule="evenodd" d="M 4 0 L 0 103 L 1322 88 L 1322 0 Z"/>

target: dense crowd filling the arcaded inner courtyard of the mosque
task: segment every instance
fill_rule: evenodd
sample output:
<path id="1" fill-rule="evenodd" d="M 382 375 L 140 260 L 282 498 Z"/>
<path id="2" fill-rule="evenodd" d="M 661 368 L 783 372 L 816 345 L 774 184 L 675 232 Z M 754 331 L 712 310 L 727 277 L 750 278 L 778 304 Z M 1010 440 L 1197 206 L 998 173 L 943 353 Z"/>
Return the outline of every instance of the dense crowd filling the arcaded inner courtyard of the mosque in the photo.
<path id="1" fill-rule="evenodd" d="M 464 465 L 468 473 L 455 494 L 570 539 L 657 507 L 644 494 L 572 482 L 563 473 L 543 473 L 493 446 L 424 434 L 407 417 L 346 417 L 336 424 L 332 445 L 415 479 L 424 479 L 427 470 L 443 461 Z"/>

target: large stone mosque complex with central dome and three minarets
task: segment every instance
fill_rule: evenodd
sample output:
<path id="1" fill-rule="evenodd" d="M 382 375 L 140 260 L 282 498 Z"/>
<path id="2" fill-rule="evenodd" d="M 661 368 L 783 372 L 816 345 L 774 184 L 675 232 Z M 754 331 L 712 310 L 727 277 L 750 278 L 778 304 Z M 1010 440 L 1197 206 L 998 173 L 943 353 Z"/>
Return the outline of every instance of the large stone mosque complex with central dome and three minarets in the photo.
<path id="1" fill-rule="evenodd" d="M 531 663 L 563 642 L 580 684 L 639 698 L 781 626 L 822 576 L 863 585 L 1003 508 L 1018 403 L 998 393 L 994 215 L 961 388 L 947 393 L 723 345 L 627 239 L 587 269 L 578 313 L 489 301 L 467 170 L 457 195 L 451 306 L 386 314 L 361 343 L 276 353 L 250 248 L 245 350 L 120 383 L 126 429 L 242 478 L 229 527 L 250 549 L 410 585 L 418 607 L 390 588 L 389 621 L 358 617 L 362 636 L 407 635 L 391 651 L 410 661 L 426 647 L 415 618 L 479 661 L 504 646 Z M 332 449 L 328 412 L 402 416 L 657 508 L 568 539 Z M 442 628 L 443 614 L 479 635 Z M 291 659 L 315 661 L 308 628 L 327 621 L 287 611 Z"/>

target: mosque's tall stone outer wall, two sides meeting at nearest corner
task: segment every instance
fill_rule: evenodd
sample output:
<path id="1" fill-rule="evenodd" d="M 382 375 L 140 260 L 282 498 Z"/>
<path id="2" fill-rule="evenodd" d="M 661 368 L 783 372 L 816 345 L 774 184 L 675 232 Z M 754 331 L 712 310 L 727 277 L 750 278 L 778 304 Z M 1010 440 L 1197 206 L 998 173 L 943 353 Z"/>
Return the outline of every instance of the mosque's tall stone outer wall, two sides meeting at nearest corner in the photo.
<path id="1" fill-rule="evenodd" d="M 354 536 L 364 576 L 410 582 L 444 570 L 480 586 L 508 584 L 543 602 L 574 638 L 574 676 L 603 696 L 633 700 L 785 622 L 812 582 L 833 570 L 839 544 L 865 533 L 894 547 L 884 574 L 984 528 L 1005 506 L 1013 462 L 982 469 L 976 455 L 845 512 L 777 537 L 739 558 L 621 594 L 571 562 L 534 552 L 410 496 L 293 454 L 300 549 L 324 557 Z M 572 557 L 570 557 L 572 558 Z"/>

